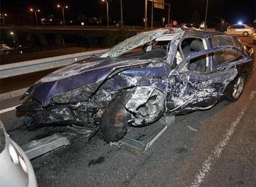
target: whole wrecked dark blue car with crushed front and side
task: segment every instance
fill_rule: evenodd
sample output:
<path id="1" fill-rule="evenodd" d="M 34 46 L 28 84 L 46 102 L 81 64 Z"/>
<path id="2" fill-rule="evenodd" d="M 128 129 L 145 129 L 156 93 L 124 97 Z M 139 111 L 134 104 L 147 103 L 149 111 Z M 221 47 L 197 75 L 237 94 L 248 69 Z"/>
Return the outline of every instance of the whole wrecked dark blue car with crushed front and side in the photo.
<path id="1" fill-rule="evenodd" d="M 40 79 L 17 113 L 28 123 L 100 127 L 106 141 L 117 141 L 129 125 L 236 101 L 253 71 L 252 52 L 223 33 L 143 32 Z"/>

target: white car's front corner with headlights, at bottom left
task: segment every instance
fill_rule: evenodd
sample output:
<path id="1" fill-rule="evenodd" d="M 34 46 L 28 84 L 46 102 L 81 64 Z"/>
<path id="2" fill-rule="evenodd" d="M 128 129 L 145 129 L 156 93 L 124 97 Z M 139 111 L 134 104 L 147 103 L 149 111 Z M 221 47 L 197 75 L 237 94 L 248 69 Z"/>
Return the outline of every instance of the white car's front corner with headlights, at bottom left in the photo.
<path id="1" fill-rule="evenodd" d="M 7 135 L 0 121 L 0 186 L 36 187 L 36 177 L 26 154 Z"/>

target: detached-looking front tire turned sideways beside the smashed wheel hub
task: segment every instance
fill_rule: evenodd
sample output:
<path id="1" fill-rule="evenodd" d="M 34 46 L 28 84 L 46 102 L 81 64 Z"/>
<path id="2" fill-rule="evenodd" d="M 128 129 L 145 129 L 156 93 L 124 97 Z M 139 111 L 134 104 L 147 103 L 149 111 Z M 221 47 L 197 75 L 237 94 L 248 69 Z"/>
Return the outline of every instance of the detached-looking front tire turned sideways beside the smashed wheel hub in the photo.
<path id="1" fill-rule="evenodd" d="M 129 93 L 117 95 L 117 97 L 109 103 L 101 117 L 101 132 L 103 133 L 103 138 L 108 143 L 120 140 L 127 131 L 127 125 L 131 116 L 126 110 L 125 105 L 130 97 L 131 94 Z"/>

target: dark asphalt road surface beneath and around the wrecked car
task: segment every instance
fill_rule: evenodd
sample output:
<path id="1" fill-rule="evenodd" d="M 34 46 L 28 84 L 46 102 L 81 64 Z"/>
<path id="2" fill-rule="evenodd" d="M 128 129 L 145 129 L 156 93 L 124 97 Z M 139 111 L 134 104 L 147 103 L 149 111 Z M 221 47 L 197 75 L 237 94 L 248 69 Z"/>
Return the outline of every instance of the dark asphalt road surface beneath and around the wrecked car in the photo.
<path id="1" fill-rule="evenodd" d="M 17 98 L 2 101 L 1 109 L 19 103 Z M 255 116 L 256 71 L 239 100 L 177 116 L 145 154 L 110 146 L 97 133 L 32 164 L 39 186 L 256 186 Z M 19 145 L 64 130 L 27 129 L 14 111 L 0 119 Z"/>

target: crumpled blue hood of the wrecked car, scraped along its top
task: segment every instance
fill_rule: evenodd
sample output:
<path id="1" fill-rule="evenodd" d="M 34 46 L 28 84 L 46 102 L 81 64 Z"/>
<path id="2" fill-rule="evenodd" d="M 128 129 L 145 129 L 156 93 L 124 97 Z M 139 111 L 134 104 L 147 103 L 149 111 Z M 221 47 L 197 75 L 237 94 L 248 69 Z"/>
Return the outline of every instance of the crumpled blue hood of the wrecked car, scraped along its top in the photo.
<path id="1" fill-rule="evenodd" d="M 75 89 L 79 89 L 77 92 L 81 93 L 83 101 L 86 101 L 111 74 L 148 63 L 148 60 L 90 57 L 48 74 L 36 82 L 30 90 L 33 98 L 43 106 L 62 103 L 63 94 L 65 97 L 69 95 L 71 103 L 81 101 L 81 95 L 78 96 L 79 99 L 72 98 L 70 91 L 74 92 Z"/>

